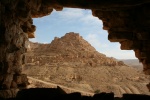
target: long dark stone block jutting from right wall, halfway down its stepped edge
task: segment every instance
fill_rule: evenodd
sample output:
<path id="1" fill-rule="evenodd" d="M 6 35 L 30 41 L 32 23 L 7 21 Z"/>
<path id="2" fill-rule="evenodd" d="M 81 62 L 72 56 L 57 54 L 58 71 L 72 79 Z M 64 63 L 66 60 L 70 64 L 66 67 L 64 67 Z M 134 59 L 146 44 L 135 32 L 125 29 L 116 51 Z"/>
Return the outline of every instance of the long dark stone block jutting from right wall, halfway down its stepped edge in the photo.
<path id="1" fill-rule="evenodd" d="M 121 41 L 133 39 L 133 33 L 132 32 L 109 31 L 108 33 L 109 33 L 108 34 L 108 40 L 110 42 L 121 42 Z"/>

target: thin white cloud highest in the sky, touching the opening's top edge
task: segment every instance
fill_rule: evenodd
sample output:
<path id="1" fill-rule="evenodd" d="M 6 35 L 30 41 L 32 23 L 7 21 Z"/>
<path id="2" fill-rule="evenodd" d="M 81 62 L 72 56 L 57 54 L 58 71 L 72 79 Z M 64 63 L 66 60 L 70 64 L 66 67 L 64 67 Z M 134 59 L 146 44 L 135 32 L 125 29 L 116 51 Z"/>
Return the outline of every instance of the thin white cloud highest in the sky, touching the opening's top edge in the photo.
<path id="1" fill-rule="evenodd" d="M 58 12 L 58 15 L 65 21 L 81 21 L 90 25 L 102 25 L 102 21 L 99 20 L 98 17 L 94 17 L 91 10 L 69 8 Z"/>

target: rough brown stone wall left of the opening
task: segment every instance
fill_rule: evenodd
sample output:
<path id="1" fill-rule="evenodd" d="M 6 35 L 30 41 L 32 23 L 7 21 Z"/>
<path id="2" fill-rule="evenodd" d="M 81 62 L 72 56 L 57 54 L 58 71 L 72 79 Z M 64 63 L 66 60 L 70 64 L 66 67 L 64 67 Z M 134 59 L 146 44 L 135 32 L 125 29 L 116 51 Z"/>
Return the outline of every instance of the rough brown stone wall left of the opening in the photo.
<path id="1" fill-rule="evenodd" d="M 0 1 L 0 90 L 26 87 L 22 74 L 28 35 L 35 31 L 31 11 L 23 0 Z M 2 91 L 1 91 L 2 92 Z"/>

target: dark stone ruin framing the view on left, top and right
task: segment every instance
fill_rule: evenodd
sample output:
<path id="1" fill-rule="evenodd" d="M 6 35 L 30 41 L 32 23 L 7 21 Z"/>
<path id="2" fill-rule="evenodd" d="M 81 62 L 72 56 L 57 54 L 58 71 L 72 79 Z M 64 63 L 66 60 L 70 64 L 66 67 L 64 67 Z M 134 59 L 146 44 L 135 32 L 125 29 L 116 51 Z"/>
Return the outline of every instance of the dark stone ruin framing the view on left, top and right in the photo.
<path id="1" fill-rule="evenodd" d="M 15 94 L 28 85 L 22 74 L 32 18 L 68 8 L 90 9 L 103 22 L 111 42 L 133 50 L 143 71 L 150 75 L 150 0 L 0 0 L 0 92 Z M 147 85 L 150 90 L 150 84 Z"/>

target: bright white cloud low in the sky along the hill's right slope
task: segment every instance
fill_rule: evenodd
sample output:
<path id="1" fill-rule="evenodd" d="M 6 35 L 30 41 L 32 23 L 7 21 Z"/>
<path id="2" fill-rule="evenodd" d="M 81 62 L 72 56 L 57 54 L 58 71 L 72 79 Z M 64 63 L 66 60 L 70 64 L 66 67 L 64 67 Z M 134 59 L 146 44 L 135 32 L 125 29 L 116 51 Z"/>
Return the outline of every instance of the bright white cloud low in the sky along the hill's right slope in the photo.
<path id="1" fill-rule="evenodd" d="M 101 35 L 101 36 L 100 36 Z M 105 54 L 108 57 L 115 57 L 117 59 L 136 59 L 134 52 L 131 50 L 121 50 L 119 43 L 108 43 L 99 37 L 103 37 L 103 34 L 88 34 L 86 40 L 100 53 Z"/>

